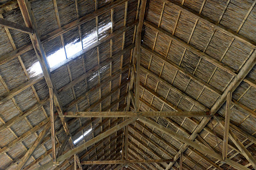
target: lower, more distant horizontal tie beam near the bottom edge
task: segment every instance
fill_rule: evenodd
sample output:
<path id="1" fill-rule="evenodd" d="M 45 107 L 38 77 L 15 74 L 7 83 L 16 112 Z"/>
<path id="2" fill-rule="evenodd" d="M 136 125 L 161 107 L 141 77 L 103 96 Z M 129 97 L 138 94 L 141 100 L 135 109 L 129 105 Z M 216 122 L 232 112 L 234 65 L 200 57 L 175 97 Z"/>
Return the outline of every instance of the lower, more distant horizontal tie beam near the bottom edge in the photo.
<path id="1" fill-rule="evenodd" d="M 94 160 L 81 161 L 81 164 L 120 164 L 120 163 L 152 163 L 152 162 L 171 162 L 173 159 L 145 159 L 145 160 Z"/>

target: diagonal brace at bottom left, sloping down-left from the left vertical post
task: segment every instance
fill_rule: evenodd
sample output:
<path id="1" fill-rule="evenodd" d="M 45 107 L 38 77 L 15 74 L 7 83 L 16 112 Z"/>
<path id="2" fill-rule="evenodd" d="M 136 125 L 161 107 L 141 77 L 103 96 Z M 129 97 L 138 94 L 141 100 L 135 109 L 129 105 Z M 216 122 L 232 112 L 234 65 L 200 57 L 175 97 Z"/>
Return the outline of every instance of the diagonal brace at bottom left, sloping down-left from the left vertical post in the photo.
<path id="1" fill-rule="evenodd" d="M 39 146 L 39 144 L 42 142 L 44 136 L 48 133 L 50 130 L 50 121 L 44 126 L 42 132 L 38 135 L 32 146 L 28 149 L 26 154 L 23 156 L 21 162 L 18 164 L 16 169 L 22 169 L 23 166 L 26 164 L 26 162 L 29 160 L 29 158 L 32 156 L 36 148 Z"/>

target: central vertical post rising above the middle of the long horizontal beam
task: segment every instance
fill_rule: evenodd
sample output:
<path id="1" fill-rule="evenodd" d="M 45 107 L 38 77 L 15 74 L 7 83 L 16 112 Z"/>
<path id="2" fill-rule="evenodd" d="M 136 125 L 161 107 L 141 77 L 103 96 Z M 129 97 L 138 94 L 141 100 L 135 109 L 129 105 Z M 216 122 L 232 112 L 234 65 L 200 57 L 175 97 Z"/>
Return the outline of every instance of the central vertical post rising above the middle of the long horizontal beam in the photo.
<path id="1" fill-rule="evenodd" d="M 137 32 L 137 75 L 136 75 L 136 111 L 139 111 L 139 101 L 140 101 L 140 65 L 141 65 L 141 32 Z"/>

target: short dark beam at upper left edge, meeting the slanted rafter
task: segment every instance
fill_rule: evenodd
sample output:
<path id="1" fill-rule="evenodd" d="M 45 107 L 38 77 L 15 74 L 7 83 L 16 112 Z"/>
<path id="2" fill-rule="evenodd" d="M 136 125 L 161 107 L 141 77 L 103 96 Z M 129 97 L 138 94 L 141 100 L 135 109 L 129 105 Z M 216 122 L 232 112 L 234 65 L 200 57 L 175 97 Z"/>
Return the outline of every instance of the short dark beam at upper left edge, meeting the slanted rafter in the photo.
<path id="1" fill-rule="evenodd" d="M 0 26 L 7 27 L 9 29 L 17 30 L 27 34 L 34 34 L 34 30 L 28 27 L 24 27 L 20 24 L 0 18 Z"/>

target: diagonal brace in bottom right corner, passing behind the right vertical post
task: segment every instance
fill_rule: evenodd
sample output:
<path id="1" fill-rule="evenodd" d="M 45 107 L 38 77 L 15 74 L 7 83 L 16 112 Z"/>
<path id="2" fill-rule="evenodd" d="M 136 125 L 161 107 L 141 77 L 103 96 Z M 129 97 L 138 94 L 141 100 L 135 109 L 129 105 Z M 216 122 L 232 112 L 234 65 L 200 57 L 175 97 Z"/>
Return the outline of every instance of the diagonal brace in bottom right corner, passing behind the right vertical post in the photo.
<path id="1" fill-rule="evenodd" d="M 220 118 L 216 117 L 219 124 L 225 128 L 225 122 Z M 251 163 L 251 165 L 256 168 L 256 160 L 255 158 L 250 154 L 250 152 L 245 148 L 245 146 L 242 144 L 242 142 L 235 136 L 235 134 L 232 132 L 231 129 L 229 129 L 228 136 L 232 140 L 232 142 L 236 145 L 236 147 L 240 150 L 242 155 Z"/>

